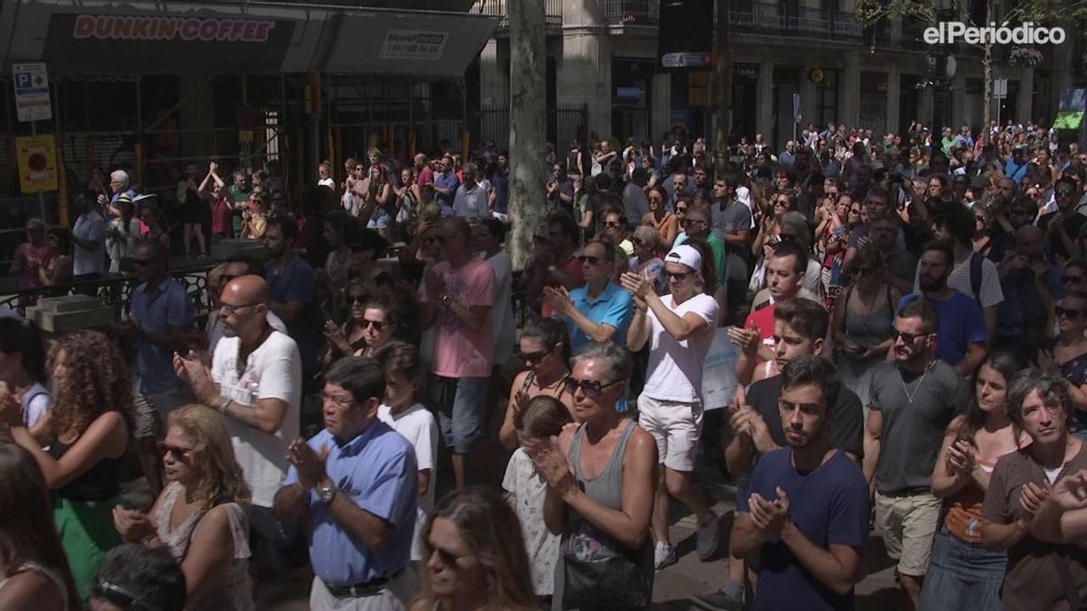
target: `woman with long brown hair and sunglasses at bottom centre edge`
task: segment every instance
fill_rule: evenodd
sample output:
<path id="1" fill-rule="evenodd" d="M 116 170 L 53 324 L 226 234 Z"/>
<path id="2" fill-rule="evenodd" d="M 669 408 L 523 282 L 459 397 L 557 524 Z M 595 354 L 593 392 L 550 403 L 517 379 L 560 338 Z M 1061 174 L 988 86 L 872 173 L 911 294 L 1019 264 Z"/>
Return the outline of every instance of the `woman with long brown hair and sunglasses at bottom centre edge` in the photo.
<path id="1" fill-rule="evenodd" d="M 513 509 L 492 487 L 443 497 L 423 528 L 426 574 L 411 611 L 539 609 Z"/>

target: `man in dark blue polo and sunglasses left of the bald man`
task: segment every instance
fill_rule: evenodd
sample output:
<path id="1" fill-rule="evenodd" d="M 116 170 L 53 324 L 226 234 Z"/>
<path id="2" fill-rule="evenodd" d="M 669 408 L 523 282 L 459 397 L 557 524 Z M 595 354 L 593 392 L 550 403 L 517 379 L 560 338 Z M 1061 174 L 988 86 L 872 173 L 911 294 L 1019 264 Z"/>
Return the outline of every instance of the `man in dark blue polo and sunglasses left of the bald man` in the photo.
<path id="1" fill-rule="evenodd" d="M 174 352 L 187 353 L 196 311 L 182 285 L 170 276 L 166 247 L 157 239 L 138 242 L 133 257 L 142 284 L 133 291 L 129 319 L 117 331 L 136 347 L 136 385 L 162 421 L 192 402 L 192 394 L 174 372 Z"/>

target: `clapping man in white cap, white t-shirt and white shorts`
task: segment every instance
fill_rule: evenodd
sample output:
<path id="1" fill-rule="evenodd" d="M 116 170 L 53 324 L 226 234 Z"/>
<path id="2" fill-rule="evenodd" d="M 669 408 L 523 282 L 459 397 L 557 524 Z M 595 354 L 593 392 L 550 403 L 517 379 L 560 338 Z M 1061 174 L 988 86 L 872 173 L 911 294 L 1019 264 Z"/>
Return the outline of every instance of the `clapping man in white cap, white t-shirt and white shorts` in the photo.
<path id="1" fill-rule="evenodd" d="M 651 280 L 623 274 L 623 286 L 634 294 L 636 311 L 627 332 L 627 347 L 650 344 L 646 386 L 638 397 L 638 424 L 657 439 L 664 469 L 657 486 L 651 528 L 658 570 L 676 561 L 669 539 L 667 496 L 689 507 L 698 519 L 698 554 L 709 560 L 721 543 L 720 520 L 691 482 L 702 428 L 702 365 L 717 328 L 720 307 L 712 295 L 714 278 L 702 277 L 702 257 L 691 246 L 664 257 L 671 295 L 660 297 Z"/>

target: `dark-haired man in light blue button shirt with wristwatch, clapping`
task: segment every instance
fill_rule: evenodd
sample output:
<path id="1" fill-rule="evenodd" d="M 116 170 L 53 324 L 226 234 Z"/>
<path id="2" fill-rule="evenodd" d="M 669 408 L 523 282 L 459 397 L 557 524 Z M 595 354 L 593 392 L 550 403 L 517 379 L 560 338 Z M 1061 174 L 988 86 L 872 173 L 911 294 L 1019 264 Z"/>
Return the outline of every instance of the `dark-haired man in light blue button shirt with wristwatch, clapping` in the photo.
<path id="1" fill-rule="evenodd" d="M 403 611 L 414 595 L 412 535 L 418 479 L 411 444 L 377 420 L 385 374 L 346 358 L 325 376 L 325 428 L 287 450 L 291 463 L 276 516 L 305 516 L 313 586 L 310 609 Z"/>

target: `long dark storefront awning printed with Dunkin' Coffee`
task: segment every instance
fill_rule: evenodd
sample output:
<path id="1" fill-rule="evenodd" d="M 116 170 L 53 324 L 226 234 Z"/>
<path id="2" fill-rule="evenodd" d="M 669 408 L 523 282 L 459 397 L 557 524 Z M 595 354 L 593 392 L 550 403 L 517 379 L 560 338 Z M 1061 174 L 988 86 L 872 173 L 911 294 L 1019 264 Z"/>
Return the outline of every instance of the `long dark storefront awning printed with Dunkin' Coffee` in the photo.
<path id="1" fill-rule="evenodd" d="M 10 64 L 45 61 L 60 76 L 353 73 L 459 77 L 497 21 L 472 13 L 26 0 L 0 8 Z"/>

